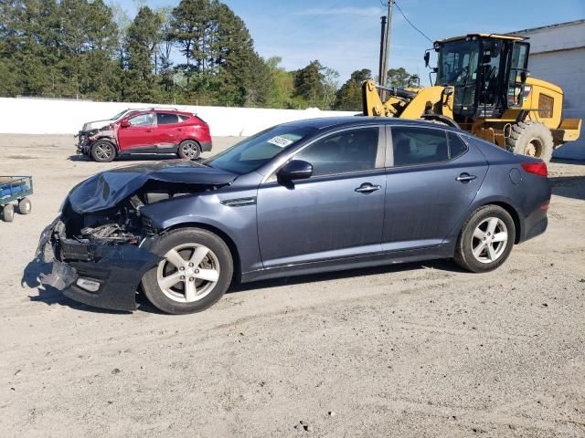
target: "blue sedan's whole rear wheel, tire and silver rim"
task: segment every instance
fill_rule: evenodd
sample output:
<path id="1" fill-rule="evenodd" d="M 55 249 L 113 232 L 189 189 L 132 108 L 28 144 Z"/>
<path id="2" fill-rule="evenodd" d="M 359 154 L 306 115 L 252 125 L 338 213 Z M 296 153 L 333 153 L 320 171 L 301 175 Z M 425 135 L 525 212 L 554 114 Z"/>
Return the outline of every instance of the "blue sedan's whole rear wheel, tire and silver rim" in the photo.
<path id="1" fill-rule="evenodd" d="M 498 205 L 484 205 L 463 224 L 454 260 L 472 272 L 491 271 L 505 262 L 515 240 L 512 216 Z"/>

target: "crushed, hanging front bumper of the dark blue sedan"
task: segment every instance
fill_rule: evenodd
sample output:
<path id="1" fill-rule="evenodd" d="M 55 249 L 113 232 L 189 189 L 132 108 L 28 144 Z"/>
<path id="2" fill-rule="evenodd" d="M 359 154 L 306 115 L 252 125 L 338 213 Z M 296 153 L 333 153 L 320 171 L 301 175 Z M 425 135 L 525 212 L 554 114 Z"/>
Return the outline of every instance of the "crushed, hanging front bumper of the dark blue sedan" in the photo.
<path id="1" fill-rule="evenodd" d="M 136 289 L 142 277 L 161 260 L 138 245 L 69 239 L 59 219 L 41 234 L 37 257 L 53 264 L 52 272 L 40 278 L 43 285 L 90 306 L 126 311 L 136 308 Z"/>

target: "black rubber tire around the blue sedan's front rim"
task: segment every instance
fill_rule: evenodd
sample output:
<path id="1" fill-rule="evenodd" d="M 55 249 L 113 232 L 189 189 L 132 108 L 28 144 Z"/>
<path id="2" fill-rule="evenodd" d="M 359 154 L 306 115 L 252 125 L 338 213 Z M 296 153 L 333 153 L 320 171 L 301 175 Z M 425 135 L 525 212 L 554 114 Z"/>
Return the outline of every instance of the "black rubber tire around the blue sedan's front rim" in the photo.
<path id="1" fill-rule="evenodd" d="M 223 297 L 223 295 L 228 290 L 229 285 L 231 284 L 233 276 L 233 260 L 231 253 L 229 252 L 229 247 L 220 237 L 218 237 L 218 235 L 214 235 L 207 230 L 200 228 L 181 228 L 175 231 L 171 231 L 165 235 L 162 235 L 161 238 L 154 244 L 154 247 L 151 251 L 154 252 L 154 254 L 165 256 L 174 248 L 180 248 L 181 246 L 185 245 L 202 245 L 210 250 L 206 257 L 210 257 L 208 260 L 209 263 L 214 263 L 211 262 L 211 257 L 212 255 L 215 256 L 215 263 L 218 263 L 218 266 L 215 266 L 215 268 L 218 270 L 218 280 L 215 282 L 215 286 L 210 287 L 210 291 L 207 292 L 207 295 L 201 298 L 197 298 L 197 301 L 179 302 L 177 299 L 179 299 L 181 293 L 183 293 L 184 297 L 186 297 L 185 287 L 186 281 L 190 279 L 189 276 L 196 276 L 195 273 L 198 273 L 199 270 L 197 269 L 193 274 L 184 270 L 183 272 L 185 274 L 182 276 L 184 280 L 177 282 L 176 286 L 172 287 L 173 290 L 170 292 L 169 289 L 167 289 L 165 292 L 163 291 L 163 288 L 160 287 L 158 282 L 159 272 L 163 272 L 164 269 L 168 266 L 171 266 L 171 269 L 174 269 L 175 266 L 172 264 L 169 265 L 170 262 L 168 261 L 162 261 L 158 266 L 154 266 L 152 269 L 146 272 L 146 274 L 144 274 L 142 285 L 144 289 L 144 295 L 146 295 L 148 300 L 154 305 L 155 308 L 158 308 L 165 313 L 184 315 L 187 313 L 201 312 L 217 303 L 219 298 Z M 195 253 L 195 251 L 191 253 L 188 253 L 188 251 L 190 251 L 189 248 L 178 250 L 179 254 L 186 260 Z M 202 264 L 203 263 L 207 263 L 207 258 L 204 259 Z M 200 266 L 202 265 L 198 264 L 193 269 L 196 269 Z M 176 269 L 175 272 L 171 272 L 169 275 L 177 273 L 180 274 L 178 269 Z M 197 279 L 193 284 L 198 284 L 197 288 L 202 287 L 202 290 L 205 290 L 205 287 L 209 287 L 211 283 L 206 282 L 205 280 Z M 176 294 L 175 299 L 169 297 L 169 294 Z"/>

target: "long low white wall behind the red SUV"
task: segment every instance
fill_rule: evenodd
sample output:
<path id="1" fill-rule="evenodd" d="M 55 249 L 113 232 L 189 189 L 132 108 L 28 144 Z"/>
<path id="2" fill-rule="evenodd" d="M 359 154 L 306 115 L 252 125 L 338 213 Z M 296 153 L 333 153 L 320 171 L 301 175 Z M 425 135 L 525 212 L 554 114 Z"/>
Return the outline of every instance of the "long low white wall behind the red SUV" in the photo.
<path id="1" fill-rule="evenodd" d="M 127 108 L 148 108 L 152 104 L 90 102 L 60 99 L 0 98 L 0 133 L 75 134 L 84 122 L 110 119 Z M 157 105 L 157 107 L 160 107 Z M 309 110 L 263 110 L 199 106 L 168 106 L 195 112 L 206 120 L 211 135 L 251 135 L 291 120 L 354 115 L 356 112 Z"/>

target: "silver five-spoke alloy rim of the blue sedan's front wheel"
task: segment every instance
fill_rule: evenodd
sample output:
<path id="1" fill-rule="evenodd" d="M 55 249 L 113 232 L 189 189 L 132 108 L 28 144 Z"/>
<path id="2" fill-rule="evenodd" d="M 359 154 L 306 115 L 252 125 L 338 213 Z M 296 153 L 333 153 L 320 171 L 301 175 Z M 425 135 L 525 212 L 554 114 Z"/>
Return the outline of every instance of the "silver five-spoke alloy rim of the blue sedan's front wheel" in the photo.
<path id="1" fill-rule="evenodd" d="M 156 271 L 156 281 L 165 296 L 180 303 L 207 297 L 218 279 L 218 256 L 205 245 L 176 246 L 165 254 Z"/>

